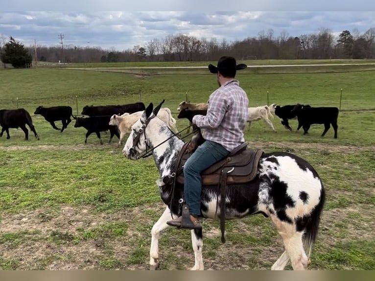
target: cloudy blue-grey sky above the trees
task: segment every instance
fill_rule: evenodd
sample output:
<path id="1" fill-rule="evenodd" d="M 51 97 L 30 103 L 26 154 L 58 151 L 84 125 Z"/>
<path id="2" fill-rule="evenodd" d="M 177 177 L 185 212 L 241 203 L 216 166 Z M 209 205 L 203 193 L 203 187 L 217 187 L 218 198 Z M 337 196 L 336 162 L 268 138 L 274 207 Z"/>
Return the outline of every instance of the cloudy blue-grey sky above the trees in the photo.
<path id="1" fill-rule="evenodd" d="M 26 46 L 34 39 L 38 46 L 59 46 L 63 34 L 64 45 L 123 50 L 180 33 L 231 42 L 270 28 L 277 37 L 282 31 L 299 36 L 322 27 L 335 34 L 345 29 L 363 33 L 375 27 L 375 12 L 0 12 L 0 36 L 13 36 Z"/>

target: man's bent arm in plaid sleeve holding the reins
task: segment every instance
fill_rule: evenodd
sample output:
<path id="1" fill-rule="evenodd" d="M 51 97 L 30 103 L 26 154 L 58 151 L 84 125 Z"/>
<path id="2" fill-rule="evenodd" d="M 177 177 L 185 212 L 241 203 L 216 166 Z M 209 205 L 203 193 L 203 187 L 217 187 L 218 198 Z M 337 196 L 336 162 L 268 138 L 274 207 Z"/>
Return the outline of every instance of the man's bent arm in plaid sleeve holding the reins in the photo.
<path id="1" fill-rule="evenodd" d="M 217 128 L 225 113 L 228 110 L 228 100 L 223 96 L 222 93 L 216 93 L 211 97 L 209 107 L 207 109 L 207 115 L 196 115 L 193 117 L 193 124 L 196 124 L 199 128 Z"/>

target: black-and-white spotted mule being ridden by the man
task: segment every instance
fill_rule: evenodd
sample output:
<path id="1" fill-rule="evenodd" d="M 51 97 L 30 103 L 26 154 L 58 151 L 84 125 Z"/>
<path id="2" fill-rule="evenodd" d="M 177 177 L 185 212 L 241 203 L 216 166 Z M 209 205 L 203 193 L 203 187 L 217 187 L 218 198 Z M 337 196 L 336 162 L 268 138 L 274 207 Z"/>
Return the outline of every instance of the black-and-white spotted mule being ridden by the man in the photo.
<path id="1" fill-rule="evenodd" d="M 180 140 L 164 122 L 155 118 L 161 105 L 153 109 L 150 103 L 141 118 L 132 126 L 132 132 L 123 148 L 124 156 L 131 160 L 137 160 L 144 153 L 152 151 L 163 179 L 158 180 L 157 184 L 166 208 L 151 230 L 150 266 L 152 268 L 158 267 L 160 233 L 168 227 L 167 222 L 170 221 L 171 216 L 180 217 L 186 211 L 181 208 L 183 198 L 186 198 L 185 181 L 176 180 L 175 173 L 181 160 L 180 151 L 186 143 Z M 255 176 L 242 177 L 244 168 L 249 169 L 250 173 L 252 166 L 245 160 L 246 157 L 251 157 L 252 153 L 249 153 L 249 150 L 239 151 L 244 158 L 238 158 L 236 153 L 228 151 L 227 159 L 232 160 L 229 162 L 222 160 L 223 167 L 228 168 L 225 173 L 228 174 L 225 193 L 221 193 L 217 185 L 211 184 L 212 181 L 205 181 L 203 175 L 199 207 L 201 216 L 215 219 L 216 214 L 220 213 L 225 219 L 235 219 L 262 213 L 270 217 L 285 247 L 284 253 L 273 264 L 272 269 L 282 270 L 289 261 L 293 269 L 306 269 L 310 263 L 308 257 L 317 237 L 325 203 L 325 190 L 318 173 L 308 162 L 294 154 L 272 152 L 263 153 L 258 160 L 254 160 L 254 163 L 257 163 L 253 165 Z M 242 166 L 238 168 L 239 163 L 242 163 Z M 218 163 L 202 173 L 209 173 L 208 170 L 211 169 L 214 172 L 216 165 Z M 230 179 L 229 177 L 236 170 L 240 171 L 236 172 L 237 177 L 233 176 L 233 179 Z M 209 176 L 212 178 L 212 175 Z M 170 182 L 168 179 L 173 180 Z M 196 227 L 195 223 L 191 228 L 191 240 L 195 255 L 192 269 L 203 270 L 202 228 Z"/>

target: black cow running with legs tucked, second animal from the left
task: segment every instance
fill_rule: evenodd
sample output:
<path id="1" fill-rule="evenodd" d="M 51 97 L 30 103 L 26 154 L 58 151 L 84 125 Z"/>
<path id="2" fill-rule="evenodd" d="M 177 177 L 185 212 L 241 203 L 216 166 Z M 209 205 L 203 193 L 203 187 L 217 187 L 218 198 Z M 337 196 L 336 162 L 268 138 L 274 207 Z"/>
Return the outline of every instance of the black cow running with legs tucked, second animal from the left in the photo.
<path id="1" fill-rule="evenodd" d="M 70 116 L 72 115 L 72 110 L 70 106 L 53 106 L 53 107 L 43 107 L 39 106 L 34 114 L 40 114 L 43 116 L 55 130 L 60 130 L 56 127 L 55 121 L 61 120 L 63 127 L 61 128 L 61 133 L 66 129 L 71 122 Z"/>

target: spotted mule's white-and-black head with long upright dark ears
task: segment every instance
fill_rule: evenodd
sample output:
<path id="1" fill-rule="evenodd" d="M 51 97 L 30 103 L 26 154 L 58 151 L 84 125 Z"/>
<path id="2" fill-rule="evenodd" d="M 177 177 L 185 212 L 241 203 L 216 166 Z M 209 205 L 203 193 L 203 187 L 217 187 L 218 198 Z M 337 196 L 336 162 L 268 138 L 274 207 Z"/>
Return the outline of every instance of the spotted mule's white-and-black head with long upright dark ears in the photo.
<path id="1" fill-rule="evenodd" d="M 141 117 L 132 126 L 132 131 L 127 139 L 122 153 L 124 156 L 131 160 L 137 160 L 142 153 L 150 147 L 147 140 L 147 135 L 152 128 L 148 127 L 150 121 L 157 116 L 164 100 L 153 109 L 153 104 L 150 103 L 143 111 Z"/>

